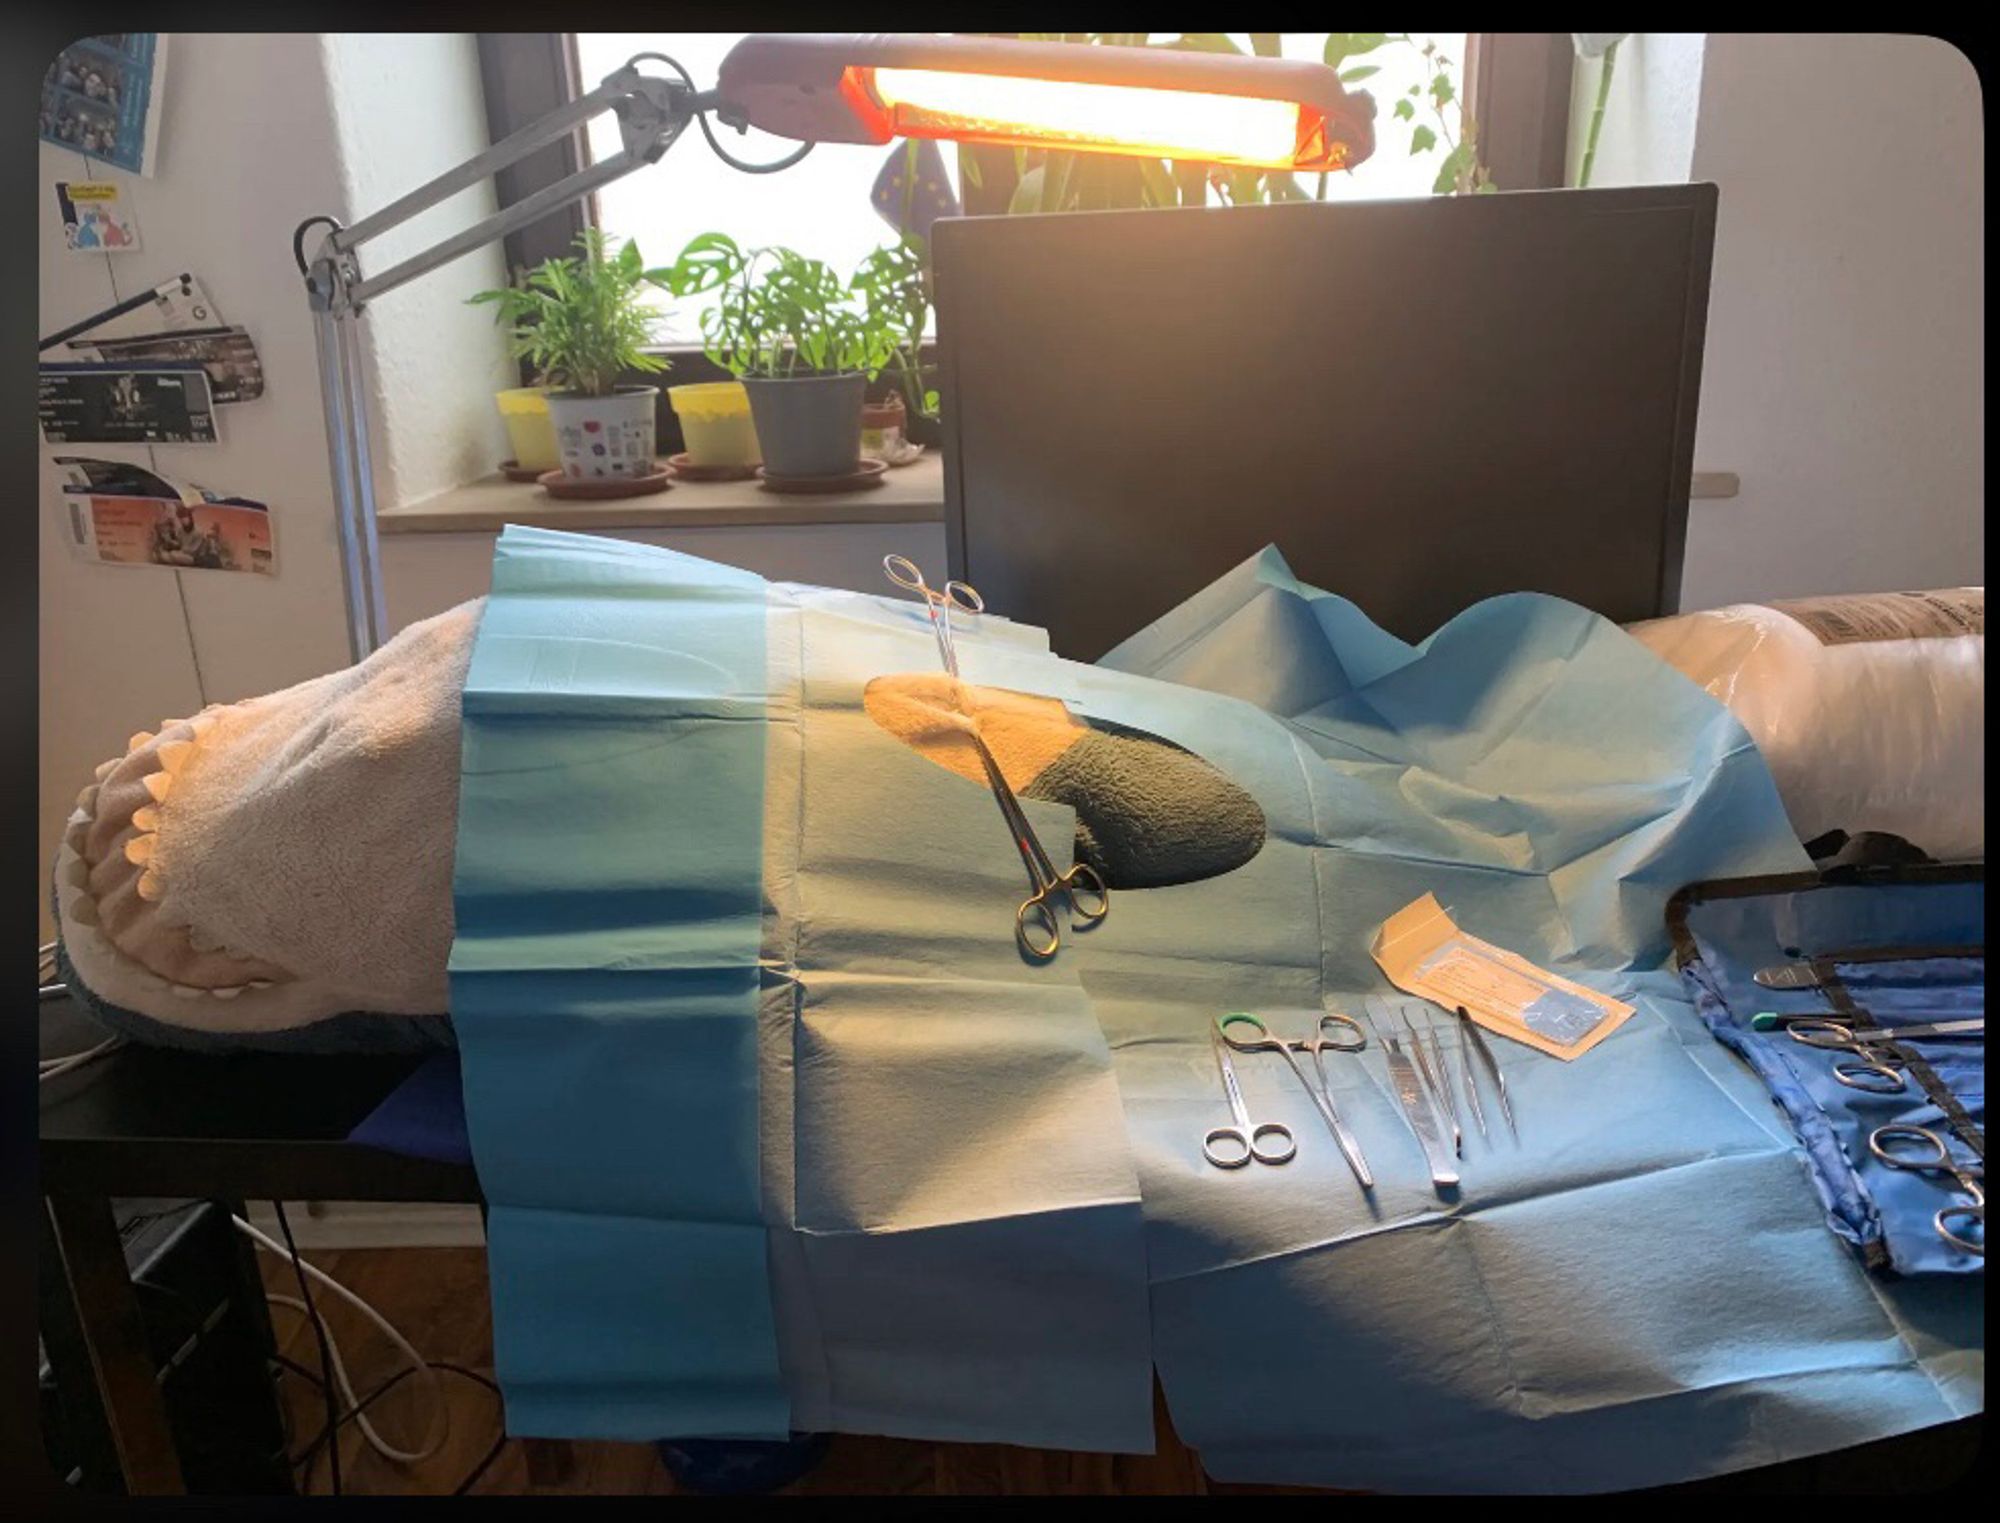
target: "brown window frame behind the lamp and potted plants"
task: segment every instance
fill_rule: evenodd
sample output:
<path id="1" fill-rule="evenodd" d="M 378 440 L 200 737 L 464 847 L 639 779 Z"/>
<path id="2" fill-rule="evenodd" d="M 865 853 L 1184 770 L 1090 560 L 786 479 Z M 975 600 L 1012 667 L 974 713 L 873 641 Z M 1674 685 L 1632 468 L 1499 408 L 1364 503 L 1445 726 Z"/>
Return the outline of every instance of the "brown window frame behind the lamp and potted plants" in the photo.
<path id="1" fill-rule="evenodd" d="M 486 92 L 486 128 L 492 142 L 540 120 L 584 92 L 574 32 L 480 32 L 480 82 Z M 1478 122 L 1482 160 L 1492 168 L 1494 184 L 1504 190 L 1558 188 L 1566 178 L 1570 126 L 1570 74 L 1574 48 L 1568 32 L 1472 32 L 1466 36 L 1464 100 L 1466 112 Z M 594 84 L 594 82 L 592 82 Z M 1004 150 L 998 150 L 1004 152 Z M 502 208 L 532 196 L 536 190 L 576 174 L 590 162 L 582 128 L 554 144 L 536 150 L 520 164 L 494 176 Z M 980 206 L 980 196 L 968 192 L 968 214 L 1000 212 L 1002 206 Z M 550 212 L 544 218 L 510 232 L 504 242 L 510 272 L 532 268 L 542 260 L 568 254 L 584 226 L 598 224 L 598 198 Z M 932 346 L 926 344 L 926 358 Z M 728 380 L 698 344 L 662 344 L 658 354 L 672 360 L 672 384 Z M 522 362 L 522 382 L 528 366 Z M 632 372 L 630 382 L 656 384 L 660 378 Z M 870 396 L 886 396 L 892 380 L 882 378 Z M 660 394 L 660 450 L 682 448 L 680 420 Z M 928 442 L 924 420 L 912 420 L 912 436 Z"/>

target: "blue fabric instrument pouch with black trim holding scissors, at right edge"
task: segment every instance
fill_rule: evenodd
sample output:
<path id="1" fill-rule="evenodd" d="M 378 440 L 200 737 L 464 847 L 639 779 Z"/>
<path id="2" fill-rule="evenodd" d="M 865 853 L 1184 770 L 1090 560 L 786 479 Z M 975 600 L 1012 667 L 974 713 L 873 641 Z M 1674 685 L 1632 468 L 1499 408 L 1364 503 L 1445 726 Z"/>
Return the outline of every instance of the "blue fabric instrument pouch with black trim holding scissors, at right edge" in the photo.
<path id="1" fill-rule="evenodd" d="M 1892 1167 L 1868 1139 L 1884 1125 L 1924 1127 L 1968 1177 L 1982 1175 L 1986 1041 L 1914 1037 L 1868 1043 L 1864 1055 L 1798 1041 L 1788 1017 L 1862 1033 L 1984 1017 L 1984 865 L 1694 883 L 1668 907 L 1680 975 L 1696 1009 L 1716 1039 L 1764 1079 L 1806 1149 L 1826 1225 L 1870 1269 L 1984 1273 L 1984 1255 L 1938 1229 L 1940 1209 L 1970 1205 L 1962 1183 L 1942 1167 Z M 1884 955 L 1900 949 L 1910 955 Z M 1774 967 L 1810 969 L 1806 985 L 1756 981 L 1760 969 Z M 1754 1029 L 1758 1013 L 1776 1023 Z M 1870 1061 L 1892 1077 L 1856 1087 L 1836 1075 L 1836 1065 L 1854 1077 L 1854 1067 Z M 1952 1229 L 1984 1237 L 1984 1227 L 1972 1229 L 1962 1215 Z"/>

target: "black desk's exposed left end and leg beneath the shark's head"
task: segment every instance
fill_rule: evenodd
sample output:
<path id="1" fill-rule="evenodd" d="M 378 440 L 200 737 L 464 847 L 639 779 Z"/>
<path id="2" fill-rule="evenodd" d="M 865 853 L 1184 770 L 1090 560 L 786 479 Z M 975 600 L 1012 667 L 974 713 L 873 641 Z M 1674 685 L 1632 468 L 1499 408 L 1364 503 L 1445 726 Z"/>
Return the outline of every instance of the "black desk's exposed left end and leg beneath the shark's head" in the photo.
<path id="1" fill-rule="evenodd" d="M 72 1015 L 62 1003 L 42 1007 L 44 1023 Z M 476 1203 L 470 1165 L 346 1141 L 420 1061 L 124 1047 L 42 1085 L 44 1275 L 60 1265 L 68 1291 L 42 1299 L 96 1381 L 64 1399 L 100 1403 L 130 1493 L 178 1493 L 182 1477 L 112 1197 L 216 1199 L 238 1215 L 246 1199 Z M 252 1257 L 246 1243 L 254 1283 Z"/>

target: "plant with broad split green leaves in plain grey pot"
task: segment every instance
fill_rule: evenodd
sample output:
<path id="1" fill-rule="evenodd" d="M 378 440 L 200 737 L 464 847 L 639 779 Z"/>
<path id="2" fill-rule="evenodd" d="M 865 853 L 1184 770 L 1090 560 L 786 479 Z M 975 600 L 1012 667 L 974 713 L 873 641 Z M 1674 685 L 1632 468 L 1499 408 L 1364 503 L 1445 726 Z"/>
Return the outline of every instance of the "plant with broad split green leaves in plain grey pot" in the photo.
<path id="1" fill-rule="evenodd" d="M 788 248 L 744 252 L 708 232 L 682 250 L 666 286 L 676 296 L 720 290 L 702 314 L 704 350 L 742 382 L 766 474 L 860 468 L 862 398 L 894 342 L 848 284 Z"/>

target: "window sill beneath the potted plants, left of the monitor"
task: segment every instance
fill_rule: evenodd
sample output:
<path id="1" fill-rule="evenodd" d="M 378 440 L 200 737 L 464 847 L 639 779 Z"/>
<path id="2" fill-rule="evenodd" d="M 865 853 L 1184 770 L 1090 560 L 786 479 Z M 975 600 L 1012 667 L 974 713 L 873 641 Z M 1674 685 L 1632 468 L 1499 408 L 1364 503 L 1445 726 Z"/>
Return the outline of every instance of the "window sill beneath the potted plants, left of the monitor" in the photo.
<path id="1" fill-rule="evenodd" d="M 754 528 L 776 524 L 942 524 L 944 462 L 936 450 L 882 474 L 882 486 L 780 496 L 758 482 L 674 482 L 650 498 L 562 502 L 532 482 L 486 476 L 406 508 L 384 508 L 378 534 L 544 530 Z"/>

